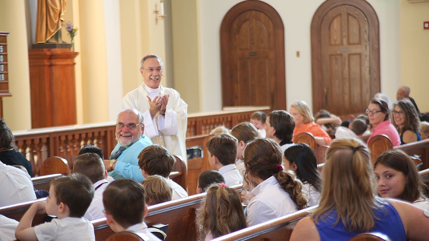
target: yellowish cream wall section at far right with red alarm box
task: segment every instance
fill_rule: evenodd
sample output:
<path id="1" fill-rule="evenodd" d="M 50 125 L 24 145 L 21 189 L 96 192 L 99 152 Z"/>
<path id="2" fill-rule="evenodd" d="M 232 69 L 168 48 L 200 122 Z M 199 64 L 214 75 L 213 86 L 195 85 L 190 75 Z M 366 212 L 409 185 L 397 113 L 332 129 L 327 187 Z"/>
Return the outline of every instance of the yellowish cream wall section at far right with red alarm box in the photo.
<path id="1" fill-rule="evenodd" d="M 401 84 L 410 87 L 421 112 L 429 112 L 429 2 L 401 0 Z"/>

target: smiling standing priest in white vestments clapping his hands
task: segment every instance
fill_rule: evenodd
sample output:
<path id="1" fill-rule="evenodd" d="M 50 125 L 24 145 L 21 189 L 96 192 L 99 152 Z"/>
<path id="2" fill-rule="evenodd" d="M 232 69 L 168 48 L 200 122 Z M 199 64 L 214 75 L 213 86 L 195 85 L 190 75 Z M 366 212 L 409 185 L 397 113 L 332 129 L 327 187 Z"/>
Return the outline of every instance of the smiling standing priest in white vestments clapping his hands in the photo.
<path id="1" fill-rule="evenodd" d="M 146 55 L 140 62 L 144 82 L 122 99 L 122 110 L 134 108 L 143 113 L 145 132 L 154 144 L 165 146 L 186 162 L 185 135 L 188 105 L 179 92 L 161 83 L 163 62 L 157 55 Z"/>

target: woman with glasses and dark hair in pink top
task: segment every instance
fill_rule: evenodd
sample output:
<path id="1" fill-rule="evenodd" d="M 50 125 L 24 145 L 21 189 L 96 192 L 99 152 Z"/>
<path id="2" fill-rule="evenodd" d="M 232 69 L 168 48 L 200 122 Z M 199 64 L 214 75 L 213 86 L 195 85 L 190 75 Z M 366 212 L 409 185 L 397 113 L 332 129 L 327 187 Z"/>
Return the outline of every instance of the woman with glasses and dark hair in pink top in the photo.
<path id="1" fill-rule="evenodd" d="M 374 127 L 374 132 L 368 138 L 368 142 L 375 135 L 386 134 L 392 141 L 393 146 L 401 144 L 398 131 L 389 119 L 389 107 L 382 99 L 373 98 L 365 111 L 370 119 L 370 124 Z M 368 144 L 367 142 L 367 144 Z"/>

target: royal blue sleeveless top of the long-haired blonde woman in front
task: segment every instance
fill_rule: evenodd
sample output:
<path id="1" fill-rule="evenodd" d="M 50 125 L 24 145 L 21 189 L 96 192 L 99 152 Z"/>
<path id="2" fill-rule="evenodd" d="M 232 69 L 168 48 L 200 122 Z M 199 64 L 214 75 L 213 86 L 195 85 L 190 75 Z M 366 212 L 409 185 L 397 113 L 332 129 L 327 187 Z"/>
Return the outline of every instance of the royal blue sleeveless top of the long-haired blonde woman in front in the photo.
<path id="1" fill-rule="evenodd" d="M 370 232 L 383 233 L 392 241 L 407 241 L 404 226 L 396 209 L 387 201 L 381 201 L 380 203 L 383 208 L 374 210 L 378 220 L 374 220 L 375 226 Z M 315 223 L 317 231 L 319 232 L 320 241 L 347 241 L 362 233 L 348 232 L 344 229 L 342 220 L 334 227 L 333 225 L 337 220 L 337 212 L 335 210 L 321 217 L 323 217 L 323 221 L 319 217 L 319 225 Z"/>

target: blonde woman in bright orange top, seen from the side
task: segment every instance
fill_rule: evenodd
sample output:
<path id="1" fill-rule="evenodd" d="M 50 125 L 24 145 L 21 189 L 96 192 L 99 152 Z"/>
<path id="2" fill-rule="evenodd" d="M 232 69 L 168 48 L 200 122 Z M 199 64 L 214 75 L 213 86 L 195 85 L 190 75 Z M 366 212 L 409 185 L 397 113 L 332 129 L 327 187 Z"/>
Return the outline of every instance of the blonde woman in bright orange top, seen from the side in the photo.
<path id="1" fill-rule="evenodd" d="M 295 136 L 301 132 L 310 132 L 313 134 L 314 139 L 318 145 L 329 145 L 331 144 L 331 137 L 322 128 L 322 126 L 314 122 L 313 114 L 308 108 L 307 103 L 303 101 L 296 101 L 290 106 L 289 113 L 295 119 L 295 129 L 293 130 L 294 141 Z"/>

